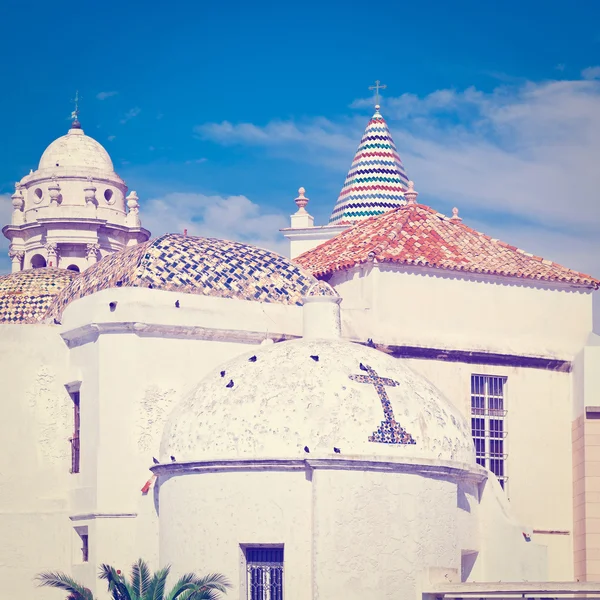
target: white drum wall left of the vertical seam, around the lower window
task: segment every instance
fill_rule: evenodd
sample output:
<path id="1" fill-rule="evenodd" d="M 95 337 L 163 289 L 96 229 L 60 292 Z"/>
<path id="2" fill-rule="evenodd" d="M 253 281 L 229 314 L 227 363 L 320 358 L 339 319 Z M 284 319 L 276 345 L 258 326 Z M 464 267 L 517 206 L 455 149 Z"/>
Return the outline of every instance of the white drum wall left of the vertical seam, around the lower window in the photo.
<path id="1" fill-rule="evenodd" d="M 161 566 L 172 565 L 177 576 L 198 570 L 223 573 L 233 583 L 227 598 L 242 600 L 240 545 L 283 544 L 284 598 L 310 598 L 310 498 L 304 470 L 171 477 L 160 487 Z"/>

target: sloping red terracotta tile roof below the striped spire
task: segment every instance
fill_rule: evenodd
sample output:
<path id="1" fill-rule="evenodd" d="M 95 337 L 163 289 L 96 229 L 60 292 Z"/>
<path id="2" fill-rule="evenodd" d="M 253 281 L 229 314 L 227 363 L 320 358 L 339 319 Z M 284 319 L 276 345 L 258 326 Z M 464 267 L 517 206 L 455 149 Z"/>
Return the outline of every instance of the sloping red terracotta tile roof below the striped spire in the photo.
<path id="1" fill-rule="evenodd" d="M 494 240 L 422 204 L 370 217 L 294 259 L 316 277 L 376 260 L 597 289 L 600 281 Z"/>

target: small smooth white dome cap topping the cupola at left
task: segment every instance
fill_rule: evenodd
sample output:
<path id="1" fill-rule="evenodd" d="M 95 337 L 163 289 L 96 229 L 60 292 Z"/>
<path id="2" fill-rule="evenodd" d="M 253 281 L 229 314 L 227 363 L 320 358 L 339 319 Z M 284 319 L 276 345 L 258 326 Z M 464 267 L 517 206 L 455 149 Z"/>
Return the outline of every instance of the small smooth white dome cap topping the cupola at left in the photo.
<path id="1" fill-rule="evenodd" d="M 108 152 L 82 129 L 70 129 L 67 135 L 54 140 L 42 154 L 39 169 L 76 167 L 114 171 Z M 58 174 L 58 173 L 57 173 Z"/>

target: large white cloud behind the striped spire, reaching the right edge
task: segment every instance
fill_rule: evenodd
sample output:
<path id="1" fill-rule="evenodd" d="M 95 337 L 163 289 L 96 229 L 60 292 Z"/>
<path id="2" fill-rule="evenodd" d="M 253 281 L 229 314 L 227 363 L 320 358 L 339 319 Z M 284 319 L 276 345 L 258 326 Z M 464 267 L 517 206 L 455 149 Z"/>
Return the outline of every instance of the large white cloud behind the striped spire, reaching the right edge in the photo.
<path id="1" fill-rule="evenodd" d="M 372 99 L 353 104 L 367 105 Z M 420 201 L 456 204 L 463 217 L 477 215 L 486 233 L 508 220 L 501 239 L 510 243 L 518 242 L 512 232 L 528 224 L 528 234 L 519 234 L 525 250 L 548 250 L 566 266 L 600 275 L 594 242 L 600 227 L 600 81 L 404 94 L 386 98 L 382 112 Z M 364 114 L 359 123 L 224 122 L 196 131 L 221 144 L 277 147 L 278 156 L 335 168 L 337 180 L 340 165 L 350 166 Z"/>

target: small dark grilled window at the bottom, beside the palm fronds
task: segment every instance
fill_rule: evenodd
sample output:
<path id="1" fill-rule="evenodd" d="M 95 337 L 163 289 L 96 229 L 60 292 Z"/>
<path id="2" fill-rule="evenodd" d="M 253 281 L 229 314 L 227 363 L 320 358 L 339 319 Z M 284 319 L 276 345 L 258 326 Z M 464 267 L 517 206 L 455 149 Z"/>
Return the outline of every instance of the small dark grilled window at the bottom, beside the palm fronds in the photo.
<path id="1" fill-rule="evenodd" d="M 246 548 L 248 600 L 283 600 L 283 548 Z"/>

